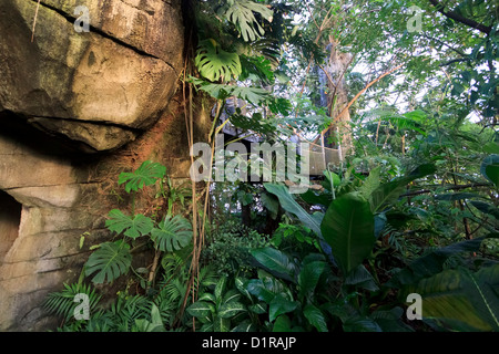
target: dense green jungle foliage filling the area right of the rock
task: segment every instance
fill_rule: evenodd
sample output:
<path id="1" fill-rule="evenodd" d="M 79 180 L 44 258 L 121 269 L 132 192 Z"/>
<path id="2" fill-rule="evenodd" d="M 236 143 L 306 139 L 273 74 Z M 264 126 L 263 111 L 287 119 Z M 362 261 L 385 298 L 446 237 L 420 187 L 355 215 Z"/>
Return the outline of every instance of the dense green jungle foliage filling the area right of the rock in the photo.
<path id="1" fill-rule="evenodd" d="M 486 23 L 471 33 L 428 3 L 432 27 L 418 37 L 397 22 L 405 1 L 211 2 L 197 4 L 198 46 L 183 81 L 184 92 L 216 101 L 211 137 L 226 124 L 272 143 L 330 126 L 334 110 L 317 103 L 324 87 L 307 69 L 325 63 L 323 38 L 336 35 L 375 69 L 388 54 L 405 62 L 404 84 L 344 73 L 350 90 L 380 90 L 353 98 L 352 150 L 304 194 L 238 180 L 177 188 L 150 160 L 122 173 L 116 190 L 131 206 L 109 212 L 113 238 L 44 303 L 58 330 L 498 331 L 499 37 L 487 17 L 497 9 L 455 3 L 452 13 Z M 293 11 L 302 25 L 292 25 Z M 435 42 L 435 58 L 421 54 Z M 407 95 L 404 108 L 387 103 L 394 85 Z M 203 187 L 205 199 L 193 198 Z M 136 214 L 145 191 L 169 207 Z M 151 260 L 138 264 L 141 252 Z M 110 283 L 123 285 L 109 293 Z M 88 295 L 88 319 L 77 294 Z"/>

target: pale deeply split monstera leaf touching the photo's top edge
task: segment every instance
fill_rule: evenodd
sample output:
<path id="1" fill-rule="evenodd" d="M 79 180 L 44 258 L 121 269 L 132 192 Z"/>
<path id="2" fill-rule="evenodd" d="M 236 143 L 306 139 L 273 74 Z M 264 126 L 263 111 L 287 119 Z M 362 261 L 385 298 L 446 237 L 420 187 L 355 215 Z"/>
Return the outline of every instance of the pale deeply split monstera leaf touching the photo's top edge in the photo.
<path id="1" fill-rule="evenodd" d="M 232 6 L 225 12 L 228 21 L 234 23 L 245 42 L 254 41 L 265 33 L 253 12 L 267 21 L 272 20 L 273 11 L 265 4 L 251 0 L 232 0 Z"/>

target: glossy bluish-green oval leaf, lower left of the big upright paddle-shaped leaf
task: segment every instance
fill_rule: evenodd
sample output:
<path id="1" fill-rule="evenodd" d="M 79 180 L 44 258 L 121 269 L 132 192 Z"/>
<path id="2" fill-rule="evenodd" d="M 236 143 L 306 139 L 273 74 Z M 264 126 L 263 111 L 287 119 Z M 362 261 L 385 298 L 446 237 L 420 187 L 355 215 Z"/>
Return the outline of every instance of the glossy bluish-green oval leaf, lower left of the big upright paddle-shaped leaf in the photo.
<path id="1" fill-rule="evenodd" d="M 251 253 L 274 275 L 295 281 L 296 264 L 285 253 L 272 247 L 253 249 Z"/>

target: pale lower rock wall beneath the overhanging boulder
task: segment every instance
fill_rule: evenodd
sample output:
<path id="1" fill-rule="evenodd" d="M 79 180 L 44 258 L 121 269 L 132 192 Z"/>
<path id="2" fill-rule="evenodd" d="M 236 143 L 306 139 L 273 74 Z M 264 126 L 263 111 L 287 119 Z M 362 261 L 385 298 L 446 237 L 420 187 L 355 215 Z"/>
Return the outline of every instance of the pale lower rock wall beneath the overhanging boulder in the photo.
<path id="1" fill-rule="evenodd" d="M 82 205 L 95 185 L 69 158 L 40 153 L 0 135 L 0 189 L 14 198 L 20 212 L 17 235 L 2 242 L 0 257 L 0 330 L 41 330 L 40 300 L 74 278 L 83 262 L 79 235 L 90 230 L 99 210 Z M 86 198 L 88 199 L 88 198 Z M 0 200 L 0 216 L 9 217 Z M 0 217 L 0 229 L 9 222 Z M 16 220 L 10 218 L 11 223 Z M 38 309 L 38 310 L 35 310 Z M 33 310 L 35 310 L 33 312 Z M 47 316 L 47 314 L 44 314 Z M 41 322 L 40 322 L 41 321 Z"/>

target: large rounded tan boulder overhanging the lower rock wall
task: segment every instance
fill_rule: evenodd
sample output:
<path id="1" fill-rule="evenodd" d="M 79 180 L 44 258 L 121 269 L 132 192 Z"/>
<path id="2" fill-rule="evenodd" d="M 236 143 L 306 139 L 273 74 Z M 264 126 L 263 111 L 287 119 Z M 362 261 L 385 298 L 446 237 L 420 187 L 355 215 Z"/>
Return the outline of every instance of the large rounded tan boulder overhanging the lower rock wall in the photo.
<path id="1" fill-rule="evenodd" d="M 183 54 L 180 1 L 2 0 L 0 112 L 108 150 L 157 121 Z M 32 23 L 37 14 L 34 40 Z M 78 32 L 86 14 L 89 32 Z M 84 18 L 83 18 L 84 19 Z M 77 27 L 77 28 L 75 28 Z"/>

